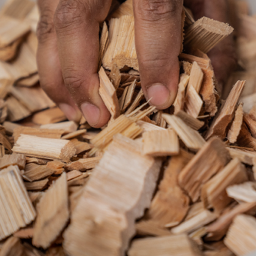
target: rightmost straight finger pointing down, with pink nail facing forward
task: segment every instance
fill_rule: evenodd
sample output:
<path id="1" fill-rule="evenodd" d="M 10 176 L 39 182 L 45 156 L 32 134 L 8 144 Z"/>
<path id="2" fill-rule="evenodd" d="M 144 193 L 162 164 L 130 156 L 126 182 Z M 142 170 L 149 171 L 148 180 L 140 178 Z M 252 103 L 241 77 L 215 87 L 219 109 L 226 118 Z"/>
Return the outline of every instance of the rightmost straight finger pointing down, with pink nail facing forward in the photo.
<path id="1" fill-rule="evenodd" d="M 182 0 L 133 0 L 141 86 L 151 105 L 168 108 L 177 94 Z"/>

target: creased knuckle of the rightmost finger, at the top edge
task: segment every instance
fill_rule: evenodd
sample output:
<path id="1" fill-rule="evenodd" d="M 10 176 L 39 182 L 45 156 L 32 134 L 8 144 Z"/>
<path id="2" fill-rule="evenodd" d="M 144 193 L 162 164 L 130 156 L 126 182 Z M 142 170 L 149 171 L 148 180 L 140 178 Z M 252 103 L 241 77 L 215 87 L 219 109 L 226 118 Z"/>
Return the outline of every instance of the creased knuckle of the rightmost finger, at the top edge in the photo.
<path id="1" fill-rule="evenodd" d="M 181 8 L 181 0 L 138 0 L 137 6 L 138 14 L 149 22 L 177 15 Z"/>

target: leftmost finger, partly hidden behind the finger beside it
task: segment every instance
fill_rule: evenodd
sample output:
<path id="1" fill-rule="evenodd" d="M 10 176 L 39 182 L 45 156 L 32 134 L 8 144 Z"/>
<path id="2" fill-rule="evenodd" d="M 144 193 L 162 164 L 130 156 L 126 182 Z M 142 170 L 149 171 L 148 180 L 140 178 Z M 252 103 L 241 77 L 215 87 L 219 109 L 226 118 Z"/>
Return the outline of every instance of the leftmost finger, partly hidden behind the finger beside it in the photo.
<path id="1" fill-rule="evenodd" d="M 45 92 L 62 109 L 69 120 L 79 121 L 81 112 L 65 88 L 58 60 L 57 38 L 53 24 L 58 0 L 39 0 L 41 18 L 38 23 L 38 73 Z"/>

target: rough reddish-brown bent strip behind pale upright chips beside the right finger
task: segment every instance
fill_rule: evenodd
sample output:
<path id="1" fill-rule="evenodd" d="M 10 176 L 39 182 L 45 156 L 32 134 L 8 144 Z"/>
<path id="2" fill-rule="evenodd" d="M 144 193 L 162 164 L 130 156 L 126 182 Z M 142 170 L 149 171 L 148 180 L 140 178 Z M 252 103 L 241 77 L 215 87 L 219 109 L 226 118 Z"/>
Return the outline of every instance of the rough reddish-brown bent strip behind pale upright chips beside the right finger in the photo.
<path id="1" fill-rule="evenodd" d="M 192 65 L 193 62 L 198 62 L 201 70 L 204 72 L 204 79 L 201 85 L 200 95 L 204 100 L 204 111 L 208 112 L 210 116 L 214 116 L 218 110 L 217 108 L 217 98 L 216 89 L 214 86 L 214 71 L 211 66 L 211 60 L 209 58 L 199 58 L 194 55 L 187 55 L 181 53 L 179 56 L 183 60 L 183 67 L 185 68 L 185 63 Z M 190 75 L 190 68 L 188 68 Z"/>

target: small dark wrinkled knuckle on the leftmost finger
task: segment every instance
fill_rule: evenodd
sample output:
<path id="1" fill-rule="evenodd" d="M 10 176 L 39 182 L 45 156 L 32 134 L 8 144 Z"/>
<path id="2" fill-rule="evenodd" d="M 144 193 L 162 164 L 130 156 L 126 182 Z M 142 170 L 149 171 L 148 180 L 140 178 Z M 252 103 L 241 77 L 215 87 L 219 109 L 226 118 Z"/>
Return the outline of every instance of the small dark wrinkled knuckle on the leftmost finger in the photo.
<path id="1" fill-rule="evenodd" d="M 44 42 L 48 35 L 51 35 L 55 32 L 54 24 L 53 24 L 53 13 L 49 9 L 45 9 L 42 12 L 40 20 L 38 22 L 37 27 L 37 36 L 39 42 Z"/>

